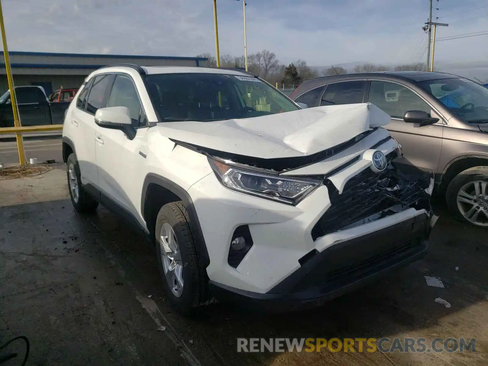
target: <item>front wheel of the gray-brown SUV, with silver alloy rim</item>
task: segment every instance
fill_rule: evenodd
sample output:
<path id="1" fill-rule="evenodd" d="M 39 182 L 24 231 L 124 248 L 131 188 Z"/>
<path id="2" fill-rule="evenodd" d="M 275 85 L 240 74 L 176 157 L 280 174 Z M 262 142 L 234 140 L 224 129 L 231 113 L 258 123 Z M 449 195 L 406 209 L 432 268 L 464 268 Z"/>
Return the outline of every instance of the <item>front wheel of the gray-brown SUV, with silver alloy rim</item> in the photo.
<path id="1" fill-rule="evenodd" d="M 459 173 L 447 185 L 447 208 L 459 221 L 488 228 L 488 166 Z"/>

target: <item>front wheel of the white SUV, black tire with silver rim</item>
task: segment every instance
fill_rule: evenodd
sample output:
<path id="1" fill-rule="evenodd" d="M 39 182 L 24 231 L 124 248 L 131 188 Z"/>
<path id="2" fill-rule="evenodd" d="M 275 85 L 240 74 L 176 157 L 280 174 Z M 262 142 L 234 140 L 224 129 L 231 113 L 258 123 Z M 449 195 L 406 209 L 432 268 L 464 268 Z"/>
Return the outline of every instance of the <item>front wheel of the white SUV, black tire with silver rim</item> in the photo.
<path id="1" fill-rule="evenodd" d="M 160 209 L 155 235 L 163 288 L 171 304 L 185 315 L 208 304 L 208 277 L 197 255 L 193 224 L 181 201 Z"/>

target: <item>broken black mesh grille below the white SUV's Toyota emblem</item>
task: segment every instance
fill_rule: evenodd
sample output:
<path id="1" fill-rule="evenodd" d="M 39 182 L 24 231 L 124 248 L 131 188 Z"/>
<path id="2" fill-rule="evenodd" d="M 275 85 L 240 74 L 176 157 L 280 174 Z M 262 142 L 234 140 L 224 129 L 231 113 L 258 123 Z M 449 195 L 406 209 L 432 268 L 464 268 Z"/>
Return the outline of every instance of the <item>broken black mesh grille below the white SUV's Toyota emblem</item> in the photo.
<path id="1" fill-rule="evenodd" d="M 388 164 L 395 156 L 395 152 L 386 156 Z M 388 169 L 375 173 L 366 168 L 346 183 L 342 194 L 339 194 L 332 182 L 326 180 L 331 207 L 313 227 L 313 240 L 391 207 L 391 198 L 384 189 L 378 188 L 378 181 L 386 174 Z"/>

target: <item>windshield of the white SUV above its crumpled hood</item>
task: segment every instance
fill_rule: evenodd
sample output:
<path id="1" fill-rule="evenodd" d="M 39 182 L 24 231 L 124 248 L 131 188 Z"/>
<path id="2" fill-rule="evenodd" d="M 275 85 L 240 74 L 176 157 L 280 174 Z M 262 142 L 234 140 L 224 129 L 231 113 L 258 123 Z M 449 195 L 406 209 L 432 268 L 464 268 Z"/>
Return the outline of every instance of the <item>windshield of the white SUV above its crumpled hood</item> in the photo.
<path id="1" fill-rule="evenodd" d="M 184 73 L 144 78 L 161 122 L 221 121 L 300 109 L 272 86 L 249 76 Z"/>

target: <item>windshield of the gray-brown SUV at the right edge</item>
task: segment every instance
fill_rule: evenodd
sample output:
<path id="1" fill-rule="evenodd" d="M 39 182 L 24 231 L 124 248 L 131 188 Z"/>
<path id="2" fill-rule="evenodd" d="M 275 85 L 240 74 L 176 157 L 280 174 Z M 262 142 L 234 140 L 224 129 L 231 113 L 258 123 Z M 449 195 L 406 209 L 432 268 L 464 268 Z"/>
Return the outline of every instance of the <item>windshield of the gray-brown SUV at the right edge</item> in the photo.
<path id="1" fill-rule="evenodd" d="M 465 122 L 488 123 L 488 89 L 468 79 L 421 81 L 419 85 Z"/>

